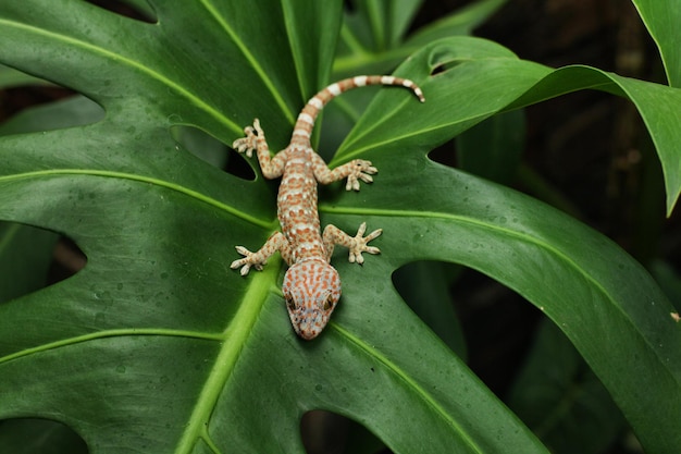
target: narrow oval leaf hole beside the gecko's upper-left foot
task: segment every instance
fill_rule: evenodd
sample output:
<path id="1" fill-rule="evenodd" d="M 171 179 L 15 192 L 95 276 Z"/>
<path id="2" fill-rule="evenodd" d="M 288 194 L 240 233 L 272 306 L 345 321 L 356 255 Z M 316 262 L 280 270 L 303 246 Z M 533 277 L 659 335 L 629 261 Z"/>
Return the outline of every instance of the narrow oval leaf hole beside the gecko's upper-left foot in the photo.
<path id="1" fill-rule="evenodd" d="M 256 179 L 246 159 L 198 127 L 174 125 L 171 127 L 171 136 L 183 148 L 209 164 L 245 180 Z"/>

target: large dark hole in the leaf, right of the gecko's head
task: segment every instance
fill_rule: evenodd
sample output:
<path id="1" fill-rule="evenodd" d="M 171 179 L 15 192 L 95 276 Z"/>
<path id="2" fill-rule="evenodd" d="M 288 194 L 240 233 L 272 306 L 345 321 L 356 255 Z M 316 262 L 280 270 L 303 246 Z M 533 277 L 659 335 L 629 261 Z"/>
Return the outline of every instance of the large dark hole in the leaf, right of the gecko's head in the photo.
<path id="1" fill-rule="evenodd" d="M 393 284 L 496 395 L 505 395 L 543 317 L 538 309 L 494 279 L 456 263 L 411 262 L 393 273 Z"/>

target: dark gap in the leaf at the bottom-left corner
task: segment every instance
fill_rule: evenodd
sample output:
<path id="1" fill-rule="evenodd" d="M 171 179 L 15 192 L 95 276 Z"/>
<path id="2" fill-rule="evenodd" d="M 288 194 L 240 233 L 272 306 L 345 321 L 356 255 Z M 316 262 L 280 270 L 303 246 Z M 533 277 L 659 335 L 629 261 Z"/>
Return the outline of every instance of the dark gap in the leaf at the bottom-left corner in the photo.
<path id="1" fill-rule="evenodd" d="M 87 454 L 85 440 L 73 429 L 49 419 L 16 418 L 0 421 L 3 453 Z"/>

